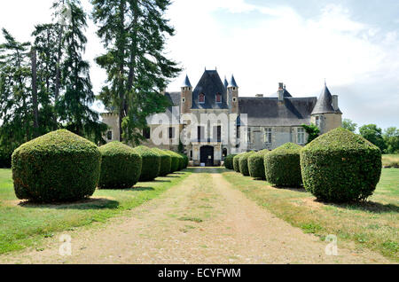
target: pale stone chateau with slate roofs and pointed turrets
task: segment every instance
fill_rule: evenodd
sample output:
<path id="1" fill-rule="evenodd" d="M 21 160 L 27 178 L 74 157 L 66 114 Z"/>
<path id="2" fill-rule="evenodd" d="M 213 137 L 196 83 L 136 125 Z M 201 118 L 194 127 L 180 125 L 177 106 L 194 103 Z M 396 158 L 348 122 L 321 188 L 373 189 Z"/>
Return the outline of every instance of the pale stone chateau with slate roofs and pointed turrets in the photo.
<path id="1" fill-rule="evenodd" d="M 302 124 L 316 124 L 325 133 L 342 122 L 338 96 L 326 86 L 318 99 L 293 98 L 283 83 L 270 97 L 240 98 L 234 76 L 222 82 L 217 71 L 206 70 L 194 89 L 186 76 L 179 92 L 163 94 L 173 106 L 147 118 L 150 135 L 143 145 L 177 151 L 182 143 L 197 166 L 220 165 L 230 153 L 273 150 L 287 142 L 305 145 L 308 135 Z M 118 115 L 102 117 L 112 132 L 106 140 L 117 140 Z"/>

